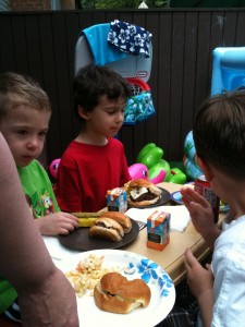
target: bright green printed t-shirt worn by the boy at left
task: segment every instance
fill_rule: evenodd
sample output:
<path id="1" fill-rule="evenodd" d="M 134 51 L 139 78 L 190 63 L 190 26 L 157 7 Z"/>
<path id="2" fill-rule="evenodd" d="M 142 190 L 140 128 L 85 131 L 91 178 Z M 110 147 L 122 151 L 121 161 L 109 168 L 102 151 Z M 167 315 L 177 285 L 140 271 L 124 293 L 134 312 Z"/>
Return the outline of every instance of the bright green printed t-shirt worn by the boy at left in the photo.
<path id="1" fill-rule="evenodd" d="M 60 211 L 49 177 L 37 160 L 33 160 L 27 167 L 17 167 L 17 171 L 26 201 L 35 218 Z M 5 311 L 16 298 L 15 289 L 0 276 L 0 313 Z"/>

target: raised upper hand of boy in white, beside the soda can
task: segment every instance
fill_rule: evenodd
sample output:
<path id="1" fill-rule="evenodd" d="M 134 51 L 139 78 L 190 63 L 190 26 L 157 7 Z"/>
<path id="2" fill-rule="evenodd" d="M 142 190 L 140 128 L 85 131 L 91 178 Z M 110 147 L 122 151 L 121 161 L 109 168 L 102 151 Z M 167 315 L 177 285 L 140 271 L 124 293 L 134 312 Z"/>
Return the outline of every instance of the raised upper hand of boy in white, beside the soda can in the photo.
<path id="1" fill-rule="evenodd" d="M 213 222 L 211 205 L 192 187 L 182 187 L 181 194 L 195 229 L 201 234 L 208 246 L 212 249 L 221 231 Z"/>

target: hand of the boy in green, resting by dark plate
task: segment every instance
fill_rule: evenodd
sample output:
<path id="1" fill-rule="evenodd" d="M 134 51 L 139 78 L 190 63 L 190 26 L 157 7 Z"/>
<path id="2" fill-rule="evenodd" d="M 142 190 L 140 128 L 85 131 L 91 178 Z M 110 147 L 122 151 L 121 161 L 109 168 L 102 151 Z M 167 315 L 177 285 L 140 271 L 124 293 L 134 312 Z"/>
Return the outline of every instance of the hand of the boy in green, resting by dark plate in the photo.
<path id="1" fill-rule="evenodd" d="M 35 220 L 42 235 L 69 234 L 78 228 L 78 219 L 66 213 L 54 213 Z"/>

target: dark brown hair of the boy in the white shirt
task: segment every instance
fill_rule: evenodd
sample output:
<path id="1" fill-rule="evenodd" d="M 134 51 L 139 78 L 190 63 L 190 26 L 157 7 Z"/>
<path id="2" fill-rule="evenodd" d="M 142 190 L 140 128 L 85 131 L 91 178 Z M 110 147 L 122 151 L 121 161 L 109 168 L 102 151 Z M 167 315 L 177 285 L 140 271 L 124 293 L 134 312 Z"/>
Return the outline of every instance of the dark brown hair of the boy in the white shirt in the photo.
<path id="1" fill-rule="evenodd" d="M 245 178 L 245 92 L 207 99 L 193 129 L 196 153 L 234 179 Z"/>

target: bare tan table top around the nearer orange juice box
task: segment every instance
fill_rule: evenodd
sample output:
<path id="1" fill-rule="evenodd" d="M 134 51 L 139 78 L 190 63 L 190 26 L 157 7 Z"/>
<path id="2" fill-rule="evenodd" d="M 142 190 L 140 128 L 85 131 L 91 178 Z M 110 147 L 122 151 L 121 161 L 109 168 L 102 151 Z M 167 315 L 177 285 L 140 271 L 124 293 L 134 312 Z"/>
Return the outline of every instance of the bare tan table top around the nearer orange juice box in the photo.
<path id="1" fill-rule="evenodd" d="M 179 191 L 182 185 L 173 183 L 160 183 L 158 186 L 168 190 L 170 193 Z M 170 205 L 170 203 L 168 203 Z M 210 253 L 201 235 L 195 230 L 189 221 L 184 232 L 172 231 L 170 242 L 163 251 L 147 247 L 147 229 L 144 228 L 137 239 L 123 247 L 123 250 L 138 253 L 159 264 L 172 278 L 174 284 L 177 284 L 185 277 L 184 252 L 188 247 L 194 255 L 201 261 Z"/>

